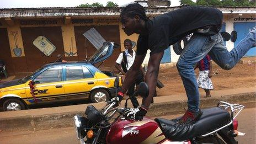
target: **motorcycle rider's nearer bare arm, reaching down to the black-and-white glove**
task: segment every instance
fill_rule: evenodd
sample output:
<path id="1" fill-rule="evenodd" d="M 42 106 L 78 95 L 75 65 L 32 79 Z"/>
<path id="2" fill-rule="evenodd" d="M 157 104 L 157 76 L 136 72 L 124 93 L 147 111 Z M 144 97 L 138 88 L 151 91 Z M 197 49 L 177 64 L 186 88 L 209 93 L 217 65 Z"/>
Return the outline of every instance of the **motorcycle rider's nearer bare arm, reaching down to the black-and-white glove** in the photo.
<path id="1" fill-rule="evenodd" d="M 148 88 L 150 89 L 150 93 L 147 98 L 143 98 L 142 105 L 150 106 L 151 100 L 154 96 L 156 85 L 157 85 L 157 76 L 159 72 L 160 62 L 162 60 L 164 51 L 150 55 L 150 60 L 148 61 L 148 67 L 145 77 L 145 82 L 148 84 Z"/>

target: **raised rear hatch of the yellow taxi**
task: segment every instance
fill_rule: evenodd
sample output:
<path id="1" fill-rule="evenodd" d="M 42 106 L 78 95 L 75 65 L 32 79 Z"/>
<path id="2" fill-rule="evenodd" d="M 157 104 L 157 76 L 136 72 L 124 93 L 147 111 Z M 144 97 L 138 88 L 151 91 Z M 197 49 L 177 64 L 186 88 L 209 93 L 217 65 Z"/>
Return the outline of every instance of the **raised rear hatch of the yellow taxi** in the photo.
<path id="1" fill-rule="evenodd" d="M 102 62 L 106 60 L 106 58 L 109 58 L 113 54 L 114 49 L 118 47 L 119 45 L 114 42 L 104 42 L 103 46 L 100 47 L 99 50 L 95 51 L 94 54 L 89 57 L 87 62 L 92 63 L 92 65 Z"/>

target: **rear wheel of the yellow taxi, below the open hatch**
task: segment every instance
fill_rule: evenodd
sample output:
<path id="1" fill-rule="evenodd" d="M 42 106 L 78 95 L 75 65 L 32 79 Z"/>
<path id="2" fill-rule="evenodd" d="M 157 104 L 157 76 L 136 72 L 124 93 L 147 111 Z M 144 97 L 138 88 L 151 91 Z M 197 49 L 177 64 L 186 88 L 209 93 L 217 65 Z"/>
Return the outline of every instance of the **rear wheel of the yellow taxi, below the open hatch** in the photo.
<path id="1" fill-rule="evenodd" d="M 105 89 L 95 89 L 90 94 L 90 100 L 93 103 L 106 102 L 109 100 L 109 93 Z"/>

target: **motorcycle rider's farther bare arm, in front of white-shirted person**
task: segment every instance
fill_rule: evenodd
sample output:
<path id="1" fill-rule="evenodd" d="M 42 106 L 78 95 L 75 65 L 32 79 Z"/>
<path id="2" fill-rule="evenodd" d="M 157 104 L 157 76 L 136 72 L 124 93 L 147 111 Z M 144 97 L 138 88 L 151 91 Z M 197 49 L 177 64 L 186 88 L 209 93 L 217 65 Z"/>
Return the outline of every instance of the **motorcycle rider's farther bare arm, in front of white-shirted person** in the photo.
<path id="1" fill-rule="evenodd" d="M 131 84 L 134 83 L 145 56 L 146 54 L 136 55 L 134 63 L 132 64 L 129 71 L 127 71 L 126 73 L 125 81 L 122 84 L 122 90 L 121 90 L 122 93 L 125 93 L 127 89 L 131 86 Z"/>

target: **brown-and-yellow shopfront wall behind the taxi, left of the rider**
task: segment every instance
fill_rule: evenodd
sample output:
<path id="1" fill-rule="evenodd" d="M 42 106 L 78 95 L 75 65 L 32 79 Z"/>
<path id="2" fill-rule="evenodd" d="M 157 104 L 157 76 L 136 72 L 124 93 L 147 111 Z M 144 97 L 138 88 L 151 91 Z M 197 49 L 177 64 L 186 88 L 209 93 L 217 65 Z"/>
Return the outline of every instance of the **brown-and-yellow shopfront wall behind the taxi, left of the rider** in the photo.
<path id="1" fill-rule="evenodd" d="M 62 54 L 67 61 L 83 61 L 97 50 L 83 36 L 89 28 L 95 28 L 107 41 L 120 44 L 119 18 L 34 18 L 0 19 L 0 37 L 5 38 L 0 59 L 7 63 L 9 73 L 32 72 Z M 50 56 L 44 55 L 33 41 L 45 36 L 56 50 Z M 78 40 L 78 41 L 77 41 Z M 87 44 L 86 44 L 87 41 Z M 14 52 L 15 51 L 15 52 Z M 18 51 L 18 52 L 17 52 Z M 17 55 L 21 52 L 21 55 Z M 103 67 L 113 67 L 113 61 L 120 48 L 103 63 Z M 73 54 L 73 55 L 71 55 Z"/>

